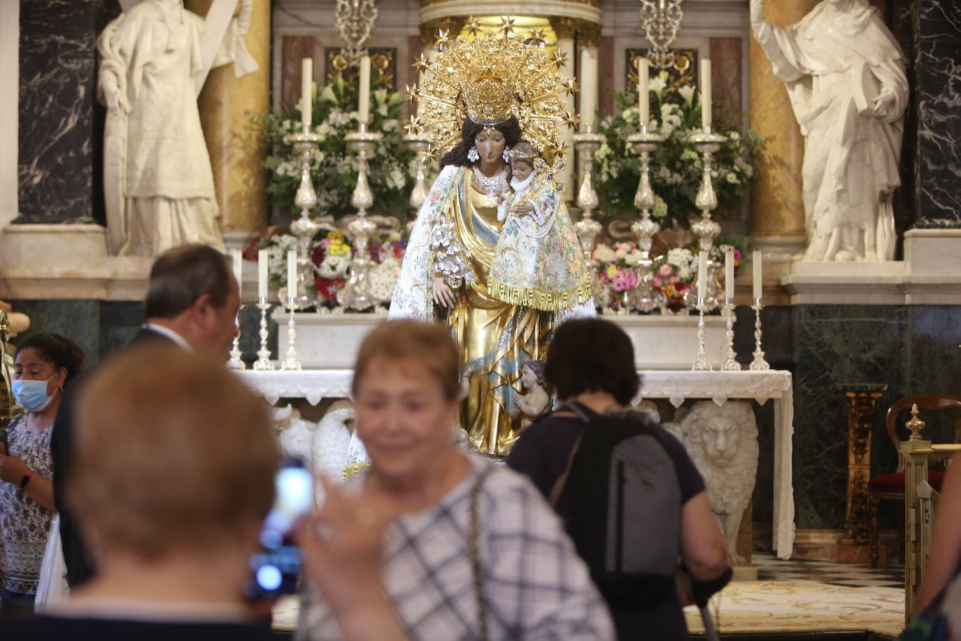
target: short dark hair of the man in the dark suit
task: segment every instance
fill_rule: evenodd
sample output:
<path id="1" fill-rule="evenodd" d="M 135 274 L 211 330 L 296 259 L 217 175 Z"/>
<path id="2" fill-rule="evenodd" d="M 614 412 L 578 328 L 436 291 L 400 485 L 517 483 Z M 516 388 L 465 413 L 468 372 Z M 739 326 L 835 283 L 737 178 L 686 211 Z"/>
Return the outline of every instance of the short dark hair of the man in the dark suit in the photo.
<path id="1" fill-rule="evenodd" d="M 209 245 L 168 249 L 150 268 L 144 301 L 147 318 L 173 318 L 203 294 L 210 295 L 214 308 L 221 308 L 230 294 L 231 278 L 227 257 Z"/>

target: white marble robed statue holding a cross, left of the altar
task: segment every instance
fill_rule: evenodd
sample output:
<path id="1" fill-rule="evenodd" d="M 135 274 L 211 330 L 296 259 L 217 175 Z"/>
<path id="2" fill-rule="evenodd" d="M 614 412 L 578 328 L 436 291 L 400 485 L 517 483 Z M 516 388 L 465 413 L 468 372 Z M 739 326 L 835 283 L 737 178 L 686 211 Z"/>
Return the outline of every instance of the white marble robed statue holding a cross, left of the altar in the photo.
<path id="1" fill-rule="evenodd" d="M 243 46 L 252 2 L 241 0 L 207 63 L 204 18 L 182 0 L 142 0 L 98 38 L 111 254 L 156 256 L 185 242 L 224 251 L 196 79 L 209 64 L 233 61 L 237 76 L 257 70 Z"/>

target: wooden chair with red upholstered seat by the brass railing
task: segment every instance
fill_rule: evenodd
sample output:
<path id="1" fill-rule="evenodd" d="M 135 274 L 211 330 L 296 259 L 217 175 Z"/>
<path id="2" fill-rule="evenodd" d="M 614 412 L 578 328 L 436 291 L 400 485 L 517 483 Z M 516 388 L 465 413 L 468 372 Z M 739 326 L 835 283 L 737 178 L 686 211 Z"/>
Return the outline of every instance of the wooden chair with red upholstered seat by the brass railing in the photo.
<path id="1" fill-rule="evenodd" d="M 888 408 L 888 413 L 884 418 L 884 426 L 887 428 L 891 443 L 898 451 L 901 438 L 898 434 L 898 415 L 905 409 L 910 409 L 912 405 L 918 404 L 918 409 L 929 411 L 939 411 L 943 409 L 961 409 L 961 398 L 957 396 L 943 396 L 938 394 L 922 394 L 919 396 L 906 396 L 895 401 Z M 924 434 L 922 434 L 924 438 Z M 961 442 L 961 419 L 954 421 L 954 442 Z M 933 464 L 937 460 L 929 461 Z M 927 482 L 936 491 L 941 491 L 941 481 L 944 472 L 927 473 Z M 893 474 L 885 474 L 868 481 L 868 499 L 871 503 L 871 567 L 877 567 L 877 507 L 883 500 L 904 501 L 904 459 L 898 455 L 898 470 Z M 899 530 L 899 550 L 901 555 L 904 552 L 904 515 L 903 510 L 898 515 Z"/>

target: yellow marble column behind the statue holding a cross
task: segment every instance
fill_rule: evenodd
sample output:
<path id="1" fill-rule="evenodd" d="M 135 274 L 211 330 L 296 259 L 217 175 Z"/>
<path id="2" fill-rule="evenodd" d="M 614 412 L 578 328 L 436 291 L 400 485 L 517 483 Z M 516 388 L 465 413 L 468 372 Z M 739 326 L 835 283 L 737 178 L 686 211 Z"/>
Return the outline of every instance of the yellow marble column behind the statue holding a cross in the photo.
<path id="1" fill-rule="evenodd" d="M 186 0 L 185 7 L 206 15 L 212 0 Z M 220 227 L 242 235 L 267 223 L 267 173 L 247 111 L 270 109 L 270 0 L 254 0 L 247 50 L 259 64 L 254 73 L 235 77 L 234 63 L 210 69 L 198 109 L 207 139 L 213 185 L 220 205 Z"/>

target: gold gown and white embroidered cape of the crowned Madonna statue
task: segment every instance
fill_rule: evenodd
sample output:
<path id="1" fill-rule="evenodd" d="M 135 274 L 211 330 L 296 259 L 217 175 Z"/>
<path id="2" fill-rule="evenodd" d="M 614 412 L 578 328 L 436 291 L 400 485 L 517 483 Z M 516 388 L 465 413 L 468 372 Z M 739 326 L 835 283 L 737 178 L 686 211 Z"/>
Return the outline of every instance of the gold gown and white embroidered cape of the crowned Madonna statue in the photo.
<path id="1" fill-rule="evenodd" d="M 407 242 L 388 318 L 447 323 L 470 385 L 461 406 L 461 426 L 477 450 L 505 456 L 522 426 L 522 416 L 510 416 L 514 392 L 522 388 L 521 366 L 545 356 L 557 314 L 511 305 L 488 294 L 488 270 L 500 234 L 498 200 L 480 193 L 472 185 L 472 175 L 465 167 L 447 166 L 431 186 Z M 456 246 L 473 272 L 455 288 L 456 305 L 449 311 L 431 300 L 438 239 Z"/>

